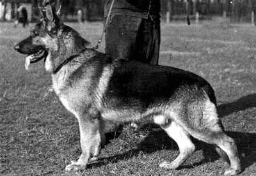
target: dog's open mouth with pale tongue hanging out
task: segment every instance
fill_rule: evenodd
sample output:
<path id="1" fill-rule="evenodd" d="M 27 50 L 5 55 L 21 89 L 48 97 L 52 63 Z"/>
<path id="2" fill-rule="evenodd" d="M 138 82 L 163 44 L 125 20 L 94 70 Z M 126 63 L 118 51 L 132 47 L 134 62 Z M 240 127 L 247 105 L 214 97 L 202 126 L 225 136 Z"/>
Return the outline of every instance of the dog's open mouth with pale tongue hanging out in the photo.
<path id="1" fill-rule="evenodd" d="M 37 50 L 33 54 L 27 55 L 26 62 L 25 62 L 26 70 L 28 70 L 29 64 L 38 62 L 42 59 L 45 59 L 47 57 L 47 55 L 48 55 L 48 52 L 45 49 L 40 49 L 40 50 Z"/>

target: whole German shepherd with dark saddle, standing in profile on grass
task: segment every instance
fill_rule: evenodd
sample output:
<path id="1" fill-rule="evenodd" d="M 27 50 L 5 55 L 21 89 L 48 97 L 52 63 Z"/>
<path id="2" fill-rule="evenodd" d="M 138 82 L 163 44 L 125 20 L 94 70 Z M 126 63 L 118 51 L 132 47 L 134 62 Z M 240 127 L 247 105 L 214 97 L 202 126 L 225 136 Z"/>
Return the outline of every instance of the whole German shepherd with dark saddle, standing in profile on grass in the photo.
<path id="1" fill-rule="evenodd" d="M 176 169 L 195 151 L 190 137 L 211 143 L 230 163 L 226 175 L 241 172 L 236 143 L 225 135 L 211 85 L 189 71 L 112 59 L 86 48 L 88 41 L 60 22 L 53 8 L 15 45 L 26 68 L 44 59 L 52 88 L 79 122 L 82 154 L 65 170 L 82 170 L 97 159 L 104 134 L 124 122 L 159 125 L 175 140 L 180 154 L 159 166 Z"/>

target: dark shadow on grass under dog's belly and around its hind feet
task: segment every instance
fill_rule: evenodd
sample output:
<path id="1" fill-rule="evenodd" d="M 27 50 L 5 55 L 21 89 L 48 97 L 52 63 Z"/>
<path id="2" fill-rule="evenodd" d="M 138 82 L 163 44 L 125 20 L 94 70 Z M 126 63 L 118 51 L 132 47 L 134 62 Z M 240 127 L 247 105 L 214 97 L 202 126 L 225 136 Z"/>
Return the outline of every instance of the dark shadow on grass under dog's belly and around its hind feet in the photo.
<path id="1" fill-rule="evenodd" d="M 226 131 L 227 135 L 234 138 L 237 143 L 237 149 L 239 150 L 239 154 L 241 154 L 241 165 L 242 168 L 248 168 L 256 162 L 256 134 L 255 133 L 241 133 L 236 131 Z M 193 140 L 196 145 L 196 150 L 203 150 L 204 159 L 197 163 L 193 163 L 192 165 L 182 165 L 182 168 L 195 168 L 196 166 L 200 166 L 204 163 L 209 163 L 216 161 L 220 157 L 213 149 L 212 145 L 209 145 L 204 142 L 200 142 L 198 140 Z M 169 136 L 166 135 L 164 131 L 155 131 L 154 133 L 149 133 L 147 138 L 141 142 L 138 149 L 132 149 L 128 152 L 124 152 L 122 154 L 116 154 L 115 156 L 111 156 L 108 158 L 101 158 L 96 163 L 93 163 L 93 168 L 100 167 L 106 165 L 106 161 L 110 163 L 118 163 L 120 160 L 128 160 L 134 156 L 138 156 L 140 152 L 144 152 L 147 154 L 156 152 L 157 150 L 162 149 L 172 149 L 179 150 L 176 143 L 170 139 Z M 91 168 L 92 165 L 89 165 L 88 168 Z"/>

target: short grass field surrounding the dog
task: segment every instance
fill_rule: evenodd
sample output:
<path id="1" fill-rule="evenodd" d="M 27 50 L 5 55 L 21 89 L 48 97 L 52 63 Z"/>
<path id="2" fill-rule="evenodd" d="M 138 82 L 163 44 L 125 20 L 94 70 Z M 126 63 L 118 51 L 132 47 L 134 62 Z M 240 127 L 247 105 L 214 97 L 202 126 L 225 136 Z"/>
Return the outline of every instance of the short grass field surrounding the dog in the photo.
<path id="1" fill-rule="evenodd" d="M 92 45 L 102 31 L 100 22 L 68 25 Z M 196 152 L 182 168 L 163 170 L 159 163 L 179 154 L 173 140 L 157 128 L 124 126 L 108 134 L 99 161 L 84 172 L 65 173 L 81 152 L 78 124 L 48 91 L 51 79 L 43 62 L 26 71 L 24 55 L 13 50 L 30 27 L 0 24 L 0 175 L 206 176 L 227 168 L 209 145 L 195 141 Z M 241 175 L 256 175 L 256 27 L 162 24 L 160 64 L 193 71 L 211 83 L 223 125 L 241 154 Z"/>

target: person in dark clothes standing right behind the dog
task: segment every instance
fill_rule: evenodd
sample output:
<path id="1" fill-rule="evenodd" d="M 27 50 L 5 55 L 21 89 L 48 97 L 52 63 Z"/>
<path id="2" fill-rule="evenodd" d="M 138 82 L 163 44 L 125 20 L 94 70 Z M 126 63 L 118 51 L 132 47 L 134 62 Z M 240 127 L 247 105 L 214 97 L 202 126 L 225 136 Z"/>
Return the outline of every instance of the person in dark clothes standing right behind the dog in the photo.
<path id="1" fill-rule="evenodd" d="M 105 22 L 112 1 L 105 0 Z M 158 64 L 160 8 L 160 0 L 114 0 L 106 26 L 106 54 Z"/>

